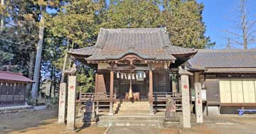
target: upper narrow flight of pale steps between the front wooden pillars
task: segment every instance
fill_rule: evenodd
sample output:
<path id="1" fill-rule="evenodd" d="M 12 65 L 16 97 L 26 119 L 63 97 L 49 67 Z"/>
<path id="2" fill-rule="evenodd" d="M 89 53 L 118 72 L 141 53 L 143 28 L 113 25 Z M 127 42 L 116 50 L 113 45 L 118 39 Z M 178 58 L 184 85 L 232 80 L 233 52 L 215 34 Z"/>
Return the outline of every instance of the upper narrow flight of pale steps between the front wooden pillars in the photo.
<path id="1" fill-rule="evenodd" d="M 114 113 L 149 113 L 149 102 L 117 102 L 113 105 Z"/>

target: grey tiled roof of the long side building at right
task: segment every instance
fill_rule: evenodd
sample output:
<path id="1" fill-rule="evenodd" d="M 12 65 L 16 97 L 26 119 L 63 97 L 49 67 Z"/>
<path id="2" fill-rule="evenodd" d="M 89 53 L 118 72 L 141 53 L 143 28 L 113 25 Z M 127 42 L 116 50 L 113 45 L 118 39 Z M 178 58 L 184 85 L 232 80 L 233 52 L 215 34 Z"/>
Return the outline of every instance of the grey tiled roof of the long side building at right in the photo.
<path id="1" fill-rule="evenodd" d="M 188 64 L 193 68 L 254 68 L 256 50 L 199 50 Z"/>

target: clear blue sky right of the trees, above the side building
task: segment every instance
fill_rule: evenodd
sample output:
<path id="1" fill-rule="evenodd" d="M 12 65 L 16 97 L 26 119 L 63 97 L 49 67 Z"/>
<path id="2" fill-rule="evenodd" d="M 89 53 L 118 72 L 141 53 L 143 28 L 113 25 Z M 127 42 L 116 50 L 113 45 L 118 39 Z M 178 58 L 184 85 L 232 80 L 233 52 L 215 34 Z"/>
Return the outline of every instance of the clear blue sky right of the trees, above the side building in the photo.
<path id="1" fill-rule="evenodd" d="M 197 0 L 198 3 L 203 3 L 205 9 L 203 11 L 203 21 L 206 23 L 206 36 L 210 36 L 216 45 L 214 49 L 223 49 L 227 45 L 228 34 L 223 30 L 233 25 L 232 20 L 237 18 L 239 0 Z M 247 12 L 249 19 L 256 21 L 256 1 L 247 1 Z M 256 26 L 255 26 L 256 29 Z M 235 48 L 242 46 L 233 45 Z M 249 45 L 248 48 L 256 48 L 256 43 Z"/>

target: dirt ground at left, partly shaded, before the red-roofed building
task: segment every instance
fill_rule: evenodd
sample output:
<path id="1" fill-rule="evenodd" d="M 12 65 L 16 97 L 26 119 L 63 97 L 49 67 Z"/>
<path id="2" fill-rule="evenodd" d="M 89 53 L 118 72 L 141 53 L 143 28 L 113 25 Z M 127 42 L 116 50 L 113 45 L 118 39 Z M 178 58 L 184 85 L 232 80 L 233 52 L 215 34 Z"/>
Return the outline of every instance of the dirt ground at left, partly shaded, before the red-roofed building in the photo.
<path id="1" fill-rule="evenodd" d="M 16 134 L 65 134 L 74 133 L 66 130 L 66 125 L 57 123 L 57 109 L 48 108 L 26 113 L 10 113 L 0 115 L 0 133 Z M 81 126 L 77 126 L 78 128 Z M 102 134 L 106 128 L 82 128 L 78 133 Z"/>

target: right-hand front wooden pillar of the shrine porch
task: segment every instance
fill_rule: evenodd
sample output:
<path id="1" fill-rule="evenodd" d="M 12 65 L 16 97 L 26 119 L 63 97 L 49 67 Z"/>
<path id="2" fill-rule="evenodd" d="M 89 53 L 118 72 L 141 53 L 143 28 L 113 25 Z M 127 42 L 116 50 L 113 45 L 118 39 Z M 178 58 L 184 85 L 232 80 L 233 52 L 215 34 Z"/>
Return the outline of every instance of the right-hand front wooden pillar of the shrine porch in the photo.
<path id="1" fill-rule="evenodd" d="M 149 114 L 154 115 L 153 111 L 153 73 L 152 73 L 152 65 L 149 65 Z"/>

